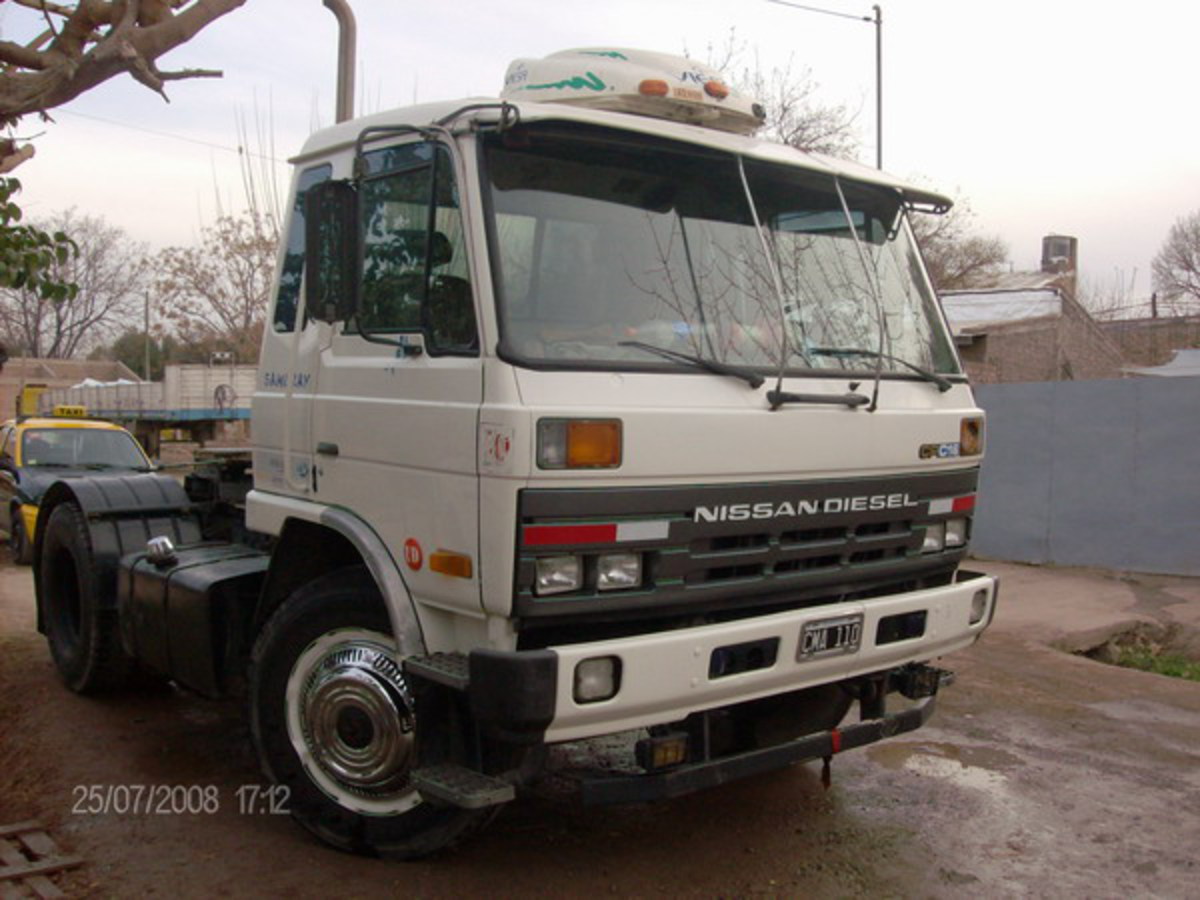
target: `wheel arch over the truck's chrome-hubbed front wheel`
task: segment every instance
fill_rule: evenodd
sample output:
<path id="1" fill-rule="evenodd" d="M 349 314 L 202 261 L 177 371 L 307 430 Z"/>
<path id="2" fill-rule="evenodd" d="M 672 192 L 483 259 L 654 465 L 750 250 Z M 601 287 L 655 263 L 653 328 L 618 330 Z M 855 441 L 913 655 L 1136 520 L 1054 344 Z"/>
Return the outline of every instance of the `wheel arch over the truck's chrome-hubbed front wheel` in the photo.
<path id="1" fill-rule="evenodd" d="M 316 518 L 284 520 L 254 611 L 254 631 L 300 586 L 349 565 L 365 566 L 379 588 L 400 653 L 424 653 L 416 607 L 388 547 L 361 518 L 332 508 L 322 508 Z"/>

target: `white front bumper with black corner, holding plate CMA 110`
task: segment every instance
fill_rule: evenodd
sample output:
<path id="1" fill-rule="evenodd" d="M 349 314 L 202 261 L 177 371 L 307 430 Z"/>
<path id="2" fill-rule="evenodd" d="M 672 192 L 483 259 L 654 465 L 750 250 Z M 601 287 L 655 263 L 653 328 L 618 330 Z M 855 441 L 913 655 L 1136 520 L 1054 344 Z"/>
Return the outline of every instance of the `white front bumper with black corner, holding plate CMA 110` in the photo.
<path id="1" fill-rule="evenodd" d="M 980 618 L 972 623 L 972 600 L 979 594 L 985 605 Z M 996 578 L 960 572 L 952 584 L 893 596 L 541 650 L 409 658 L 404 668 L 416 680 L 464 691 L 473 718 L 493 737 L 518 743 L 578 740 L 680 721 L 692 713 L 931 660 L 979 637 L 991 622 L 996 594 Z M 863 617 L 856 652 L 799 656 L 806 623 L 854 614 Z M 910 614 L 924 614 L 919 636 L 882 636 L 881 620 Z M 714 652 L 774 641 L 779 650 L 770 665 L 736 674 L 712 674 Z M 581 703 L 575 698 L 576 667 L 601 656 L 619 660 L 619 690 L 610 700 Z"/>

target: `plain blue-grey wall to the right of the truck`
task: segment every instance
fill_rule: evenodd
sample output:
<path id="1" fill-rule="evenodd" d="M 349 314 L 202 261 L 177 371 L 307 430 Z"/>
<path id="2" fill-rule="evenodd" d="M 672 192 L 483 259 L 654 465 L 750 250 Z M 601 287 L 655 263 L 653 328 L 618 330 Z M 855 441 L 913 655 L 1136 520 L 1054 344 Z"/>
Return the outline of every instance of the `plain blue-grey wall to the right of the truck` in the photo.
<path id="1" fill-rule="evenodd" d="M 1200 575 L 1200 378 L 985 384 L 974 551 Z"/>

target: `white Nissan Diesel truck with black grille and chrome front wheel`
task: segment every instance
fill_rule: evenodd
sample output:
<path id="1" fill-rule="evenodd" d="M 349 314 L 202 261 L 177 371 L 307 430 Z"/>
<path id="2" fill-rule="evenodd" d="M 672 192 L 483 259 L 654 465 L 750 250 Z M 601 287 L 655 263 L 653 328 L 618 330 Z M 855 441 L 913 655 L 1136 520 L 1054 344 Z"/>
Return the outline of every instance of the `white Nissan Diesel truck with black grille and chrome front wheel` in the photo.
<path id="1" fill-rule="evenodd" d="M 601 48 L 314 134 L 252 466 L 43 500 L 67 686 L 246 692 L 276 799 L 400 858 L 550 745 L 630 733 L 581 785 L 614 803 L 924 724 L 997 590 L 960 568 L 983 415 L 907 222 L 949 202 L 761 119 Z"/>

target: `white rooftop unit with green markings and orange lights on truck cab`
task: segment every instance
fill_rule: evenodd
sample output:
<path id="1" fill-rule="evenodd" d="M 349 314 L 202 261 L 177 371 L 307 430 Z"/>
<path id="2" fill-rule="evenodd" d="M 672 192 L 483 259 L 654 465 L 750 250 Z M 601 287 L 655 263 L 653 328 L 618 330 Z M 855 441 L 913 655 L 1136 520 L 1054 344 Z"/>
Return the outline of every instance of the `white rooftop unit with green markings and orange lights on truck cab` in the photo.
<path id="1" fill-rule="evenodd" d="M 737 134 L 752 134 L 766 118 L 760 103 L 734 91 L 710 66 L 626 48 L 582 48 L 514 60 L 500 96 L 671 119 Z"/>

